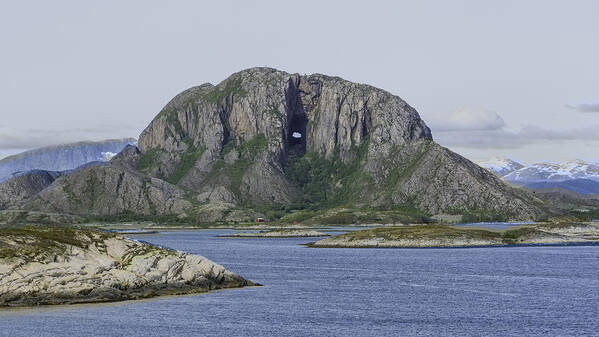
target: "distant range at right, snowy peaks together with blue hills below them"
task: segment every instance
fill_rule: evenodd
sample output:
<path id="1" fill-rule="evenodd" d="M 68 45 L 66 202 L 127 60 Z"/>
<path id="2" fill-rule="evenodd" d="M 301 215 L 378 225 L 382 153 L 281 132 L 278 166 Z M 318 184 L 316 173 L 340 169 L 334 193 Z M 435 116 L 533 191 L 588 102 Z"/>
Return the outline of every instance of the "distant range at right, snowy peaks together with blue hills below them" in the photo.
<path id="1" fill-rule="evenodd" d="M 564 189 L 580 194 L 599 194 L 599 163 L 572 160 L 524 166 L 512 159 L 492 158 L 478 162 L 508 182 L 529 189 Z"/>

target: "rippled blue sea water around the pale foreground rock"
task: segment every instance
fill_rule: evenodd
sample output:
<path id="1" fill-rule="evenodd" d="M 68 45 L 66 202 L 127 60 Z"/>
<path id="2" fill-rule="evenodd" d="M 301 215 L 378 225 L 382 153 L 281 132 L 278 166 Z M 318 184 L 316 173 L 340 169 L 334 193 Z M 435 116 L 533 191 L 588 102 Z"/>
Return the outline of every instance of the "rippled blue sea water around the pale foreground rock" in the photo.
<path id="1" fill-rule="evenodd" d="M 314 239 L 139 236 L 263 287 L 0 310 L 1 336 L 598 336 L 599 246 L 315 249 Z"/>

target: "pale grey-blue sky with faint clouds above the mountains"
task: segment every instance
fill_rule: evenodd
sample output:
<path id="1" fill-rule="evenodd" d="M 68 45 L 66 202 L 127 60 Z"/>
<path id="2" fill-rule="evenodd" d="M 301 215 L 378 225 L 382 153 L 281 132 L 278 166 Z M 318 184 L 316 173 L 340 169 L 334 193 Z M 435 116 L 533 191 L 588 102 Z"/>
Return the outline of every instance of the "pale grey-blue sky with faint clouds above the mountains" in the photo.
<path id="1" fill-rule="evenodd" d="M 368 83 L 472 160 L 599 161 L 599 1 L 2 1 L 0 158 L 137 137 L 268 66 Z"/>

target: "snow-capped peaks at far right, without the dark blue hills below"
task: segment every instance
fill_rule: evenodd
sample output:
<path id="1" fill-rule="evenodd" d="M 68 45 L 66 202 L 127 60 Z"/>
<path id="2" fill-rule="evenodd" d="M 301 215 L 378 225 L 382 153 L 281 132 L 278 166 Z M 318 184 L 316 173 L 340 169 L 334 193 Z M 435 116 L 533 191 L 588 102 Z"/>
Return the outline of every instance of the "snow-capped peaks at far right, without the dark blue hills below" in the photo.
<path id="1" fill-rule="evenodd" d="M 599 163 L 573 160 L 565 163 L 537 163 L 514 171 L 504 178 L 511 182 L 566 181 L 591 179 L 599 181 Z"/>

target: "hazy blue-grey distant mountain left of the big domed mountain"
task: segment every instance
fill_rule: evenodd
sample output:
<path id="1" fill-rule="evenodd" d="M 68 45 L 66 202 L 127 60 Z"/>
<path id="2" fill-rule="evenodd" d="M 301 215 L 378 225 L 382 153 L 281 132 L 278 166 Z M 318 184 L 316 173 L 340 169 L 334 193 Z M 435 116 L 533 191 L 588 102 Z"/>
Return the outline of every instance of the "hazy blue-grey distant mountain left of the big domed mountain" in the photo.
<path id="1" fill-rule="evenodd" d="M 0 181 L 32 170 L 66 171 L 92 162 L 109 161 L 134 138 L 86 141 L 25 151 L 0 160 Z"/>

